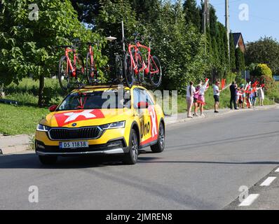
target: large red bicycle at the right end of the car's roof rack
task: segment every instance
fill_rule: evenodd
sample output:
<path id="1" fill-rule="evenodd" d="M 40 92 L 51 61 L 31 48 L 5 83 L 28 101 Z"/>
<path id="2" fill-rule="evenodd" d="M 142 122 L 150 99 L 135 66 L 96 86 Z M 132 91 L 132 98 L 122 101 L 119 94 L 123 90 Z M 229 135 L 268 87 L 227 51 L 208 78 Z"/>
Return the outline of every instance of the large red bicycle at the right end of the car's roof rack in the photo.
<path id="1" fill-rule="evenodd" d="M 158 87 L 162 82 L 162 69 L 159 59 L 151 55 L 151 38 L 149 38 L 149 47 L 147 47 L 137 40 L 140 34 L 133 34 L 133 36 L 135 36 L 135 44 L 129 43 L 124 59 L 126 83 L 132 87 L 134 75 L 137 76 L 139 83 L 144 81 L 145 76 L 149 76 L 151 84 Z M 140 48 L 147 50 L 145 57 L 142 56 Z"/>

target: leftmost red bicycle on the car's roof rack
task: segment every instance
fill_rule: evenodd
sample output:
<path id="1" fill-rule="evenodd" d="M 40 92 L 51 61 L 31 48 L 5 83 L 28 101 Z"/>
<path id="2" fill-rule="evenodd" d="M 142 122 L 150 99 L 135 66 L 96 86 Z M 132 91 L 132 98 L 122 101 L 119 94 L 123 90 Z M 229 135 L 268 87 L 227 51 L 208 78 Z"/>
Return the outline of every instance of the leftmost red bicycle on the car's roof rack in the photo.
<path id="1" fill-rule="evenodd" d="M 78 43 L 78 40 L 75 40 Z M 81 54 L 76 53 L 76 45 L 59 45 L 55 48 L 64 48 L 64 55 L 60 58 L 58 80 L 62 90 L 68 90 L 84 83 L 85 70 L 84 62 Z M 72 63 L 69 52 L 74 55 L 74 61 Z"/>

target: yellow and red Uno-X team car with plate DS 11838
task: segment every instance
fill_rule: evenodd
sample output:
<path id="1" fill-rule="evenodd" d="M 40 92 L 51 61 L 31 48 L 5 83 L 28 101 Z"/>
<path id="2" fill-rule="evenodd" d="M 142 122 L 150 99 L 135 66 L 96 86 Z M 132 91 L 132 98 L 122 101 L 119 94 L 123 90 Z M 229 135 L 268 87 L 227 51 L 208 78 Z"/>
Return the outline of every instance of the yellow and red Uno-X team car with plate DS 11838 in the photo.
<path id="1" fill-rule="evenodd" d="M 50 106 L 35 135 L 36 154 L 45 164 L 57 156 L 122 155 L 137 162 L 140 148 L 165 147 L 163 110 L 144 87 L 88 86 L 74 90 L 58 106 Z"/>

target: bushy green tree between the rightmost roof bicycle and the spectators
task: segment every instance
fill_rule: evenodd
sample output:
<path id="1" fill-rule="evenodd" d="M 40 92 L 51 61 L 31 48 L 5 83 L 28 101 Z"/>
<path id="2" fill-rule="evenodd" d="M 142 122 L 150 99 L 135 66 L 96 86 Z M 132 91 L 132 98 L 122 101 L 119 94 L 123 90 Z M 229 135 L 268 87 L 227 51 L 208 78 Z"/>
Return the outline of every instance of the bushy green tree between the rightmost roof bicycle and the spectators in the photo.
<path id="1" fill-rule="evenodd" d="M 158 20 L 147 30 L 154 37 L 152 50 L 162 64 L 165 90 L 182 93 L 189 80 L 197 83 L 205 78 L 205 37 L 192 24 L 185 26 L 181 1 L 163 4 Z"/>

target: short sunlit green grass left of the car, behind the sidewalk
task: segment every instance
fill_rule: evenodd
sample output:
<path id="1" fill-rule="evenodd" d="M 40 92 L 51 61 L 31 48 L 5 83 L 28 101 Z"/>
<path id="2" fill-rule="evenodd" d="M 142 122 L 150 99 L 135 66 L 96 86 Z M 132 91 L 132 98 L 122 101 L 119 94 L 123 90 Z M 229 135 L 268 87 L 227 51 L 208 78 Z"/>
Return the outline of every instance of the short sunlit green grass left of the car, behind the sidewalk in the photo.
<path id="1" fill-rule="evenodd" d="M 32 106 L 0 104 L 0 133 L 34 134 L 39 120 L 46 116 L 48 109 Z"/>

